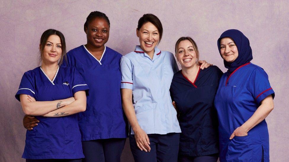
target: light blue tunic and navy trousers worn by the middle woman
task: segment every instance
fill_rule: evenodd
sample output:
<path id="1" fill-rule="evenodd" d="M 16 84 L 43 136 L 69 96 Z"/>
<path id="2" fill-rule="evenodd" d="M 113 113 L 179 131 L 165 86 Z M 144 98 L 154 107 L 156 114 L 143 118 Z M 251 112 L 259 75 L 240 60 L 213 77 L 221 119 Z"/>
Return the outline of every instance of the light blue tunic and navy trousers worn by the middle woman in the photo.
<path id="1" fill-rule="evenodd" d="M 177 160 L 181 129 L 169 91 L 176 71 L 174 55 L 158 48 L 152 59 L 140 46 L 121 58 L 121 88 L 132 90 L 137 121 L 148 134 L 152 148 L 148 153 L 140 151 L 131 129 L 130 144 L 135 161 Z"/>

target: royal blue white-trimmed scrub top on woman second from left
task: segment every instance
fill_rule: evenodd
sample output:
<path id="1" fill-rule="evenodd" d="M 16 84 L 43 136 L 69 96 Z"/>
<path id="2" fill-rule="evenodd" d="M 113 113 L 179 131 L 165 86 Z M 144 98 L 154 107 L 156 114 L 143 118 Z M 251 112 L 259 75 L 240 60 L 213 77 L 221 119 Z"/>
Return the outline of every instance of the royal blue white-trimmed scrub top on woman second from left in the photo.
<path id="1" fill-rule="evenodd" d="M 67 53 L 68 64 L 63 65 L 76 67 L 90 89 L 86 111 L 78 113 L 82 141 L 128 137 L 121 105 L 121 57 L 105 47 L 97 60 L 84 45 Z"/>

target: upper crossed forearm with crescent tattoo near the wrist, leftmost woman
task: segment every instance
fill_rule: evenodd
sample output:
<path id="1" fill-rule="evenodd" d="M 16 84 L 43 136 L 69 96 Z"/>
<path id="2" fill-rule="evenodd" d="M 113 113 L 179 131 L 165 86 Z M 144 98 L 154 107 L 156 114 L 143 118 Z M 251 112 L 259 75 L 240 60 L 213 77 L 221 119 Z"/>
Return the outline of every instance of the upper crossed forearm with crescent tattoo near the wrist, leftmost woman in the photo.
<path id="1" fill-rule="evenodd" d="M 23 111 L 28 115 L 43 115 L 66 105 L 65 100 L 35 101 L 21 103 Z"/>

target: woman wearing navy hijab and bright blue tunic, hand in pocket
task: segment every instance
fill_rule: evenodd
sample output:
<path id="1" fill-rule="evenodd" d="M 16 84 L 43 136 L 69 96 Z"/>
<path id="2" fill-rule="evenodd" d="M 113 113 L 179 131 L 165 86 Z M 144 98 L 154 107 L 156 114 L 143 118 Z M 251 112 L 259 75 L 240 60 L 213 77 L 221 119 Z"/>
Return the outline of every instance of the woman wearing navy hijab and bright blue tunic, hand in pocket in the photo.
<path id="1" fill-rule="evenodd" d="M 248 38 L 225 31 L 217 41 L 228 71 L 215 97 L 219 119 L 220 161 L 269 161 L 265 117 L 273 110 L 274 91 L 268 75 L 253 59 Z"/>

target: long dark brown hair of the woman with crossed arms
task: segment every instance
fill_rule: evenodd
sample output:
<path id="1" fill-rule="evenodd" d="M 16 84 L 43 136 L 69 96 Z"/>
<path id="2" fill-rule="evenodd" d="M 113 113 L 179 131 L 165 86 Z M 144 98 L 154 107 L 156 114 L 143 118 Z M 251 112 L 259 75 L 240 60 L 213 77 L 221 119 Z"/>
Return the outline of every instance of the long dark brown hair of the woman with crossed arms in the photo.
<path id="1" fill-rule="evenodd" d="M 48 29 L 45 32 L 43 32 L 41 35 L 40 46 L 39 46 L 39 52 L 40 52 L 39 64 L 43 60 L 44 47 L 45 47 L 46 41 L 50 35 L 57 35 L 60 38 L 62 53 L 61 53 L 61 58 L 60 58 L 58 65 L 61 65 L 63 63 L 64 59 L 65 59 L 65 61 L 67 61 L 65 38 L 64 38 L 64 35 L 60 31 L 55 30 L 55 29 Z"/>

